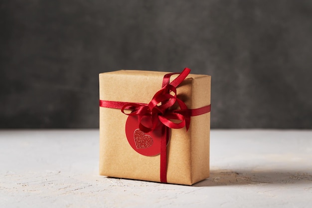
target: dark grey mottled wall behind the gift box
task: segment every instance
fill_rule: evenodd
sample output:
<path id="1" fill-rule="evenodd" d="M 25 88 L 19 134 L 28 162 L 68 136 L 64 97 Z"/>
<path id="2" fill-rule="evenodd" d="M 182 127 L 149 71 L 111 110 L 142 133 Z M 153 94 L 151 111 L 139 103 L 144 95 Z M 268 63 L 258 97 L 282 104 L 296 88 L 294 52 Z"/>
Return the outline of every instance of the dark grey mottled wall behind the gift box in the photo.
<path id="1" fill-rule="evenodd" d="M 212 75 L 212 128 L 312 128 L 311 0 L 0 0 L 0 128 L 98 127 L 98 73 Z"/>

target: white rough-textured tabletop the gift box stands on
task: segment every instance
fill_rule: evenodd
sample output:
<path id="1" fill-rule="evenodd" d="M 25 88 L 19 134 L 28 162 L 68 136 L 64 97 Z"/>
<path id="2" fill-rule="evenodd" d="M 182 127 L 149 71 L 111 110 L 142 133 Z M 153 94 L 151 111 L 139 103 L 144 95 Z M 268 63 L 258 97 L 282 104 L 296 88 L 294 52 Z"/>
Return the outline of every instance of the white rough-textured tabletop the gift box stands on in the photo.
<path id="1" fill-rule="evenodd" d="M 192 187 L 98 176 L 97 130 L 0 131 L 0 208 L 311 208 L 312 131 L 212 130 Z"/>

